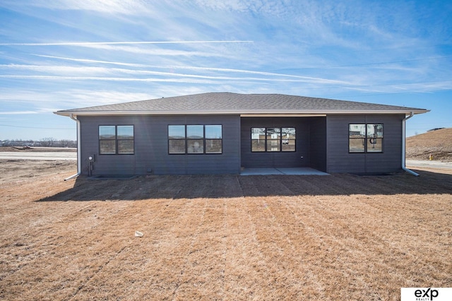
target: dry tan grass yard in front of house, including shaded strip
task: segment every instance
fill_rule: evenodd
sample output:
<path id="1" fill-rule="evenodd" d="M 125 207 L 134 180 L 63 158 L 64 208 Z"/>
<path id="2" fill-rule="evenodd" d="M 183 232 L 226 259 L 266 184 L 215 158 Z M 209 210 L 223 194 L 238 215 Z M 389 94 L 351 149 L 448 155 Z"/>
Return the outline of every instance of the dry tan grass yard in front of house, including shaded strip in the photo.
<path id="1" fill-rule="evenodd" d="M 0 299 L 399 300 L 401 287 L 452 287 L 451 171 L 64 182 L 75 172 L 0 161 Z"/>

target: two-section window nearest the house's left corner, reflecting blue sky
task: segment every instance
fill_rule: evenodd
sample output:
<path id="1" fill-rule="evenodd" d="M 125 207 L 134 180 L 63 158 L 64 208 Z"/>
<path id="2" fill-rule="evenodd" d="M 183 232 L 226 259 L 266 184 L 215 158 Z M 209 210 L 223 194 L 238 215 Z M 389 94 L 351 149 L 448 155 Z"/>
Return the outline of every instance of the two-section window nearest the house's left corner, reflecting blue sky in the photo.
<path id="1" fill-rule="evenodd" d="M 99 154 L 134 154 L 133 125 L 99 125 Z"/>

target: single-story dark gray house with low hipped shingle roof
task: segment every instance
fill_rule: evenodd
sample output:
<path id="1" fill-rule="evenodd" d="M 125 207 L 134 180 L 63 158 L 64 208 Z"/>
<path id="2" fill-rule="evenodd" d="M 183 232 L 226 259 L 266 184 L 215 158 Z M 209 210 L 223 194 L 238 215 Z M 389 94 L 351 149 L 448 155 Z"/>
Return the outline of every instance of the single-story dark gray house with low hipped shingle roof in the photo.
<path id="1" fill-rule="evenodd" d="M 204 93 L 57 111 L 77 122 L 78 174 L 326 173 L 405 168 L 405 121 L 426 109 L 283 94 Z M 78 176 L 78 175 L 74 175 Z"/>

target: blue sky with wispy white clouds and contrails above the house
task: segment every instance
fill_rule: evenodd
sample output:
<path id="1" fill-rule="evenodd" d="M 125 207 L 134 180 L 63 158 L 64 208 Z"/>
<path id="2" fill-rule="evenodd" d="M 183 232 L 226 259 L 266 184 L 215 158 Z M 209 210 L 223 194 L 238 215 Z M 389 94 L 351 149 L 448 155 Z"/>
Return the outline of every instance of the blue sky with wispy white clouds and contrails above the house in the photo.
<path id="1" fill-rule="evenodd" d="M 452 127 L 452 1 L 0 1 L 0 140 L 76 139 L 61 109 L 202 92 L 432 110 Z"/>

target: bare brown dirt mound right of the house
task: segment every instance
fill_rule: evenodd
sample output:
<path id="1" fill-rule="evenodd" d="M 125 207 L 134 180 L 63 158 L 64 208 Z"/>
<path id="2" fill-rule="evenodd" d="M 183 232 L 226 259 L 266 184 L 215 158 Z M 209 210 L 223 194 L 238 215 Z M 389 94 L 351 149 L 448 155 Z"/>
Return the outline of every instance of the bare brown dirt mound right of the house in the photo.
<path id="1" fill-rule="evenodd" d="M 452 161 L 452 128 L 432 130 L 406 140 L 407 159 Z"/>

